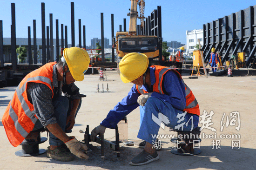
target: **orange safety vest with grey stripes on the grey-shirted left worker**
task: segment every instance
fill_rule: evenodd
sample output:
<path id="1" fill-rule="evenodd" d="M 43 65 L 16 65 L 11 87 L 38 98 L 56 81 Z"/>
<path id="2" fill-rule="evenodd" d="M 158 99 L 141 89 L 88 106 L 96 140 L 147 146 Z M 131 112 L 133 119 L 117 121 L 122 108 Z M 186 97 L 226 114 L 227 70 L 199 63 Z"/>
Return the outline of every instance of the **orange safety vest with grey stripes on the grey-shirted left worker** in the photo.
<path id="1" fill-rule="evenodd" d="M 10 143 L 14 147 L 22 143 L 25 137 L 34 129 L 34 124 L 38 120 L 34 112 L 34 106 L 27 98 L 27 83 L 35 82 L 45 84 L 53 92 L 53 66 L 55 64 L 56 62 L 47 63 L 27 74 L 21 80 L 14 92 L 12 100 L 7 106 L 2 118 L 2 124 L 4 125 Z"/>

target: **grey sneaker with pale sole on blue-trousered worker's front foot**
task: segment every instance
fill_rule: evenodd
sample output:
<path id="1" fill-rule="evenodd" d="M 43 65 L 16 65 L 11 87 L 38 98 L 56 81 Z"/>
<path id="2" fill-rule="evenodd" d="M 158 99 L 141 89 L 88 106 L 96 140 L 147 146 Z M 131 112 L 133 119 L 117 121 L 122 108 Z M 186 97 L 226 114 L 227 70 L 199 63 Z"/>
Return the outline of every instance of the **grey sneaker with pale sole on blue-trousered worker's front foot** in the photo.
<path id="1" fill-rule="evenodd" d="M 150 154 L 150 153 L 146 152 L 145 150 L 143 150 L 139 155 L 137 155 L 136 157 L 134 157 L 132 159 L 132 161 L 130 162 L 130 165 L 135 165 L 135 166 L 145 165 L 147 163 L 156 161 L 158 159 L 159 159 L 159 157 L 158 157 L 158 154 L 156 151 L 155 151 L 155 153 Z"/>

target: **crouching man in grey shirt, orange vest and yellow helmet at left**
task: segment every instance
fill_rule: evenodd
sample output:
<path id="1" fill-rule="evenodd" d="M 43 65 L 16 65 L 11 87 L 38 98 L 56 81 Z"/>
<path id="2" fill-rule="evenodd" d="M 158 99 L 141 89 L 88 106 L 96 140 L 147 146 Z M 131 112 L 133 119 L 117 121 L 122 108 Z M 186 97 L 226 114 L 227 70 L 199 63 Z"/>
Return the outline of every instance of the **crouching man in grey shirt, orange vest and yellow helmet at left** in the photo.
<path id="1" fill-rule="evenodd" d="M 84 79 L 89 62 L 85 50 L 65 48 L 58 63 L 47 63 L 23 78 L 2 118 L 13 146 L 25 138 L 36 139 L 41 130 L 47 129 L 50 132 L 47 157 L 71 161 L 74 156 L 68 153 L 69 149 L 77 157 L 88 158 L 82 151 L 87 146 L 66 133 L 72 131 L 81 106 L 81 95 L 74 81 Z"/>

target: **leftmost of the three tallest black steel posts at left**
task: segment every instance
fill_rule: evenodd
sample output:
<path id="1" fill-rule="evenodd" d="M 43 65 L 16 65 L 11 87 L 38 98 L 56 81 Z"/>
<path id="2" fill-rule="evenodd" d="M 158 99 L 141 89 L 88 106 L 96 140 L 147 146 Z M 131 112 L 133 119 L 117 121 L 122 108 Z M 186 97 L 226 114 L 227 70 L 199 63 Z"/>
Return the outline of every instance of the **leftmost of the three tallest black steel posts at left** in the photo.
<path id="1" fill-rule="evenodd" d="M 12 3 L 11 6 L 12 6 L 12 25 L 11 25 L 12 67 L 13 67 L 13 70 L 17 70 L 15 3 Z"/>

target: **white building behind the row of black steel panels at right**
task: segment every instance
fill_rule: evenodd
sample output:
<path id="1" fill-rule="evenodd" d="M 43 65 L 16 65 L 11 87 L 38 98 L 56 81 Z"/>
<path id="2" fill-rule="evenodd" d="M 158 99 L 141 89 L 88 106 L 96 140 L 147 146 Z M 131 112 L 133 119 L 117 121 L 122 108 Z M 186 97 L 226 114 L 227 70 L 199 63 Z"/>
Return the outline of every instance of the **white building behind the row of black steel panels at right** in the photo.
<path id="1" fill-rule="evenodd" d="M 196 50 L 195 46 L 198 44 L 198 40 L 200 39 L 201 47 L 203 46 L 203 30 L 192 30 L 186 31 L 187 35 L 187 51 L 186 54 L 189 56 L 193 56 L 193 51 Z"/>

